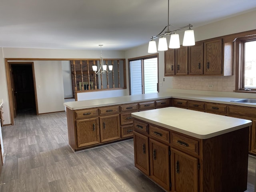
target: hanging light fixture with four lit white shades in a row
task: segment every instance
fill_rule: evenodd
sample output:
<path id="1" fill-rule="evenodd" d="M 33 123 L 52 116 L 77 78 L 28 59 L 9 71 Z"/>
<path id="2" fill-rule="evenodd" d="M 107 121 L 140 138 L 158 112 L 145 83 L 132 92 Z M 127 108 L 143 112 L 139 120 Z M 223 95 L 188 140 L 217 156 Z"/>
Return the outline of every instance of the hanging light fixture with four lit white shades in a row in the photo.
<path id="1" fill-rule="evenodd" d="M 158 51 L 165 51 L 168 50 L 167 40 L 164 36 L 171 35 L 169 48 L 180 48 L 180 38 L 179 34 L 176 34 L 177 31 L 188 29 L 184 32 L 183 38 L 183 46 L 192 46 L 195 45 L 195 37 L 194 37 L 194 30 L 191 29 L 192 25 L 188 24 L 187 26 L 180 27 L 178 30 L 170 31 L 169 26 L 169 0 L 168 0 L 168 25 L 164 27 L 164 29 L 156 36 L 152 36 L 150 42 L 148 43 L 148 53 L 156 53 L 156 42 L 154 41 L 155 38 L 159 38 L 158 41 Z M 167 30 L 164 32 L 164 30 Z M 164 32 L 164 33 L 163 33 Z"/>

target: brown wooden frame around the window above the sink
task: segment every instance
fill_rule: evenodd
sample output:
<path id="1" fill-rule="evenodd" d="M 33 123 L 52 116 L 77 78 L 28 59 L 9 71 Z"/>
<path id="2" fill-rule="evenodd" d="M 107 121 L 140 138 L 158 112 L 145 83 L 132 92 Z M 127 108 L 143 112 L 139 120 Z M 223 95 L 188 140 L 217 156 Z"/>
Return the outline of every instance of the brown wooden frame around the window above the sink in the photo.
<path id="1" fill-rule="evenodd" d="M 246 42 L 256 41 L 256 34 L 239 37 L 236 39 L 236 87 L 235 92 L 256 93 L 256 88 L 246 90 L 244 88 L 244 45 Z"/>

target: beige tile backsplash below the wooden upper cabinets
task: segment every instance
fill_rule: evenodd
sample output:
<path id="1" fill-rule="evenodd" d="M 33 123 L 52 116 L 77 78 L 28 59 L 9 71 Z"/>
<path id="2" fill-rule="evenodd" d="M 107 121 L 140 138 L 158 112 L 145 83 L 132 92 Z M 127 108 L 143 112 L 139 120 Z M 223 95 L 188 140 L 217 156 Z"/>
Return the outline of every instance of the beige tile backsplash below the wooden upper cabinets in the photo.
<path id="1" fill-rule="evenodd" d="M 172 88 L 206 91 L 233 92 L 235 90 L 235 76 L 174 76 Z M 209 88 L 209 85 L 213 85 Z"/>

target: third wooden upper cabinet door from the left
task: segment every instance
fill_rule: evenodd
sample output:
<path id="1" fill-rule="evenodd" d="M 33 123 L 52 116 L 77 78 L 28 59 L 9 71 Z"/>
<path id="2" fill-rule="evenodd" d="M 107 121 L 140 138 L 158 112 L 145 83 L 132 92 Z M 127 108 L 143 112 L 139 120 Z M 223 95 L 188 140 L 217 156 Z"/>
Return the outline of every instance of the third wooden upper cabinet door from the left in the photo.
<path id="1" fill-rule="evenodd" d="M 202 75 L 204 72 L 204 43 L 189 47 L 188 74 Z"/>

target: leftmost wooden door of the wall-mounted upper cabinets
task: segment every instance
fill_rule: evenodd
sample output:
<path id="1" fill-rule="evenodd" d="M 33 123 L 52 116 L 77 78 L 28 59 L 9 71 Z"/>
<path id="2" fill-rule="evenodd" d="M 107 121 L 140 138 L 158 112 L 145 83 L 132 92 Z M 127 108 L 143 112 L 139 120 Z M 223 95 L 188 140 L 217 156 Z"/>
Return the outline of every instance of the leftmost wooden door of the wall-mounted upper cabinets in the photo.
<path id="1" fill-rule="evenodd" d="M 164 52 L 164 76 L 175 75 L 175 49 Z"/>

